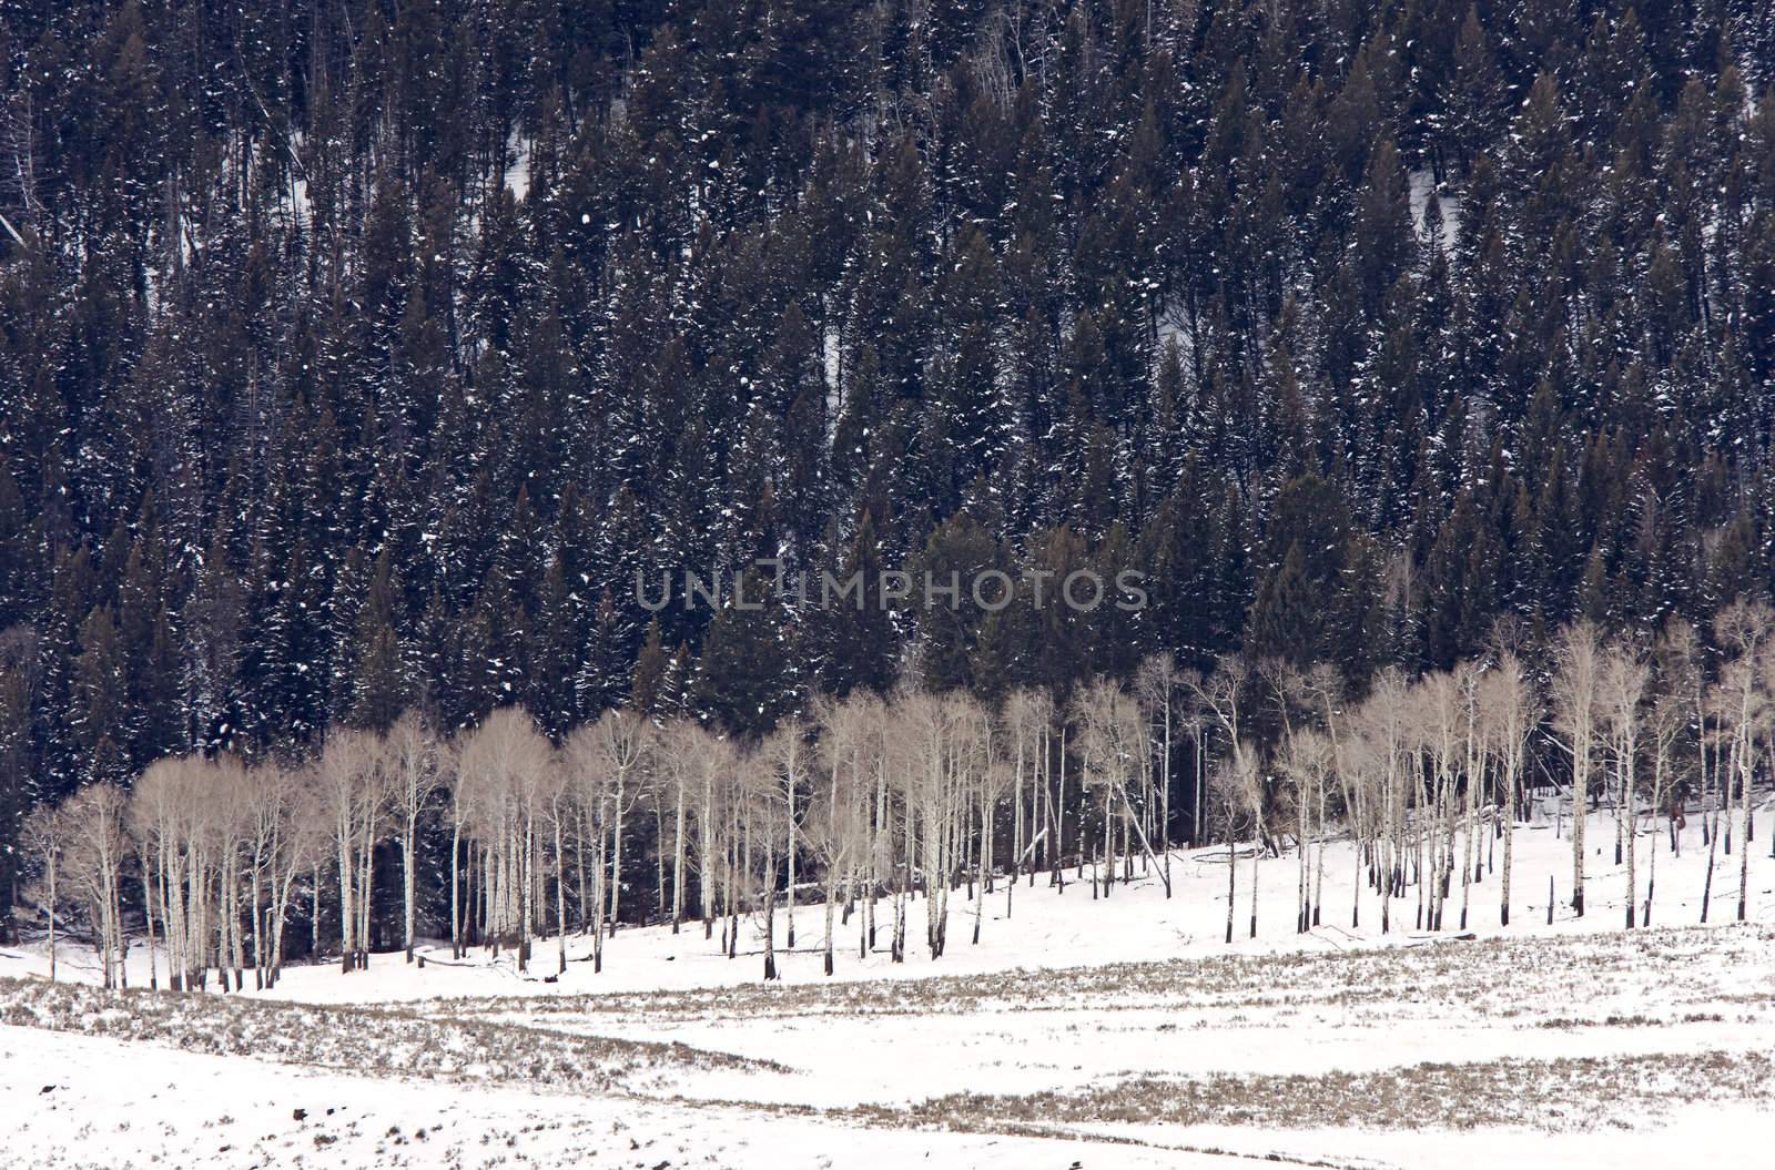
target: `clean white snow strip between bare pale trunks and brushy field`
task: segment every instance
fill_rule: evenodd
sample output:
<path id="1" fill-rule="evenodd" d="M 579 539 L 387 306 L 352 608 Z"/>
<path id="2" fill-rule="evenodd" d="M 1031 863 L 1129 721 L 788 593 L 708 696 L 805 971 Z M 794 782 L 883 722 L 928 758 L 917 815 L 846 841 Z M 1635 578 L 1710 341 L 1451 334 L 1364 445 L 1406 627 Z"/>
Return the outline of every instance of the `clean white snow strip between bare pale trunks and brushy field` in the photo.
<path id="1" fill-rule="evenodd" d="M 1736 820 L 1736 813 L 1734 813 Z M 1511 925 L 1500 925 L 1500 889 L 1503 847 L 1482 833 L 1479 852 L 1489 859 L 1484 879 L 1470 891 L 1466 930 L 1480 937 L 1525 934 L 1594 934 L 1619 930 L 1624 923 L 1626 865 L 1613 863 L 1615 822 L 1608 813 L 1592 815 L 1587 845 L 1587 913 L 1571 909 L 1571 826 L 1555 826 L 1539 815 L 1516 829 L 1516 861 L 1511 897 Z M 1748 918 L 1775 921 L 1775 858 L 1770 838 L 1775 815 L 1764 802 L 1755 817 L 1755 842 L 1750 850 Z M 1654 833 L 1651 820 L 1640 820 L 1637 838 L 1637 897 L 1644 904 L 1651 877 L 1651 850 L 1656 843 L 1656 889 L 1653 925 L 1681 927 L 1700 921 L 1702 884 L 1708 872 L 1708 847 L 1702 843 L 1700 817 L 1692 813 L 1681 833 L 1681 852 L 1670 852 L 1663 827 Z M 1317 861 L 1315 861 L 1317 865 Z M 1709 923 L 1727 923 L 1738 911 L 1740 856 L 1715 850 L 1713 900 Z M 1081 875 L 1083 874 L 1083 875 Z M 1392 902 L 1392 930 L 1381 932 L 1381 898 L 1354 881 L 1353 850 L 1347 842 L 1324 849 L 1321 888 L 1321 925 L 1310 934 L 1294 930 L 1299 858 L 1294 850 L 1282 858 L 1258 859 L 1258 930 L 1250 937 L 1251 856 L 1250 843 L 1239 845 L 1235 874 L 1234 943 L 1227 937 L 1227 847 L 1172 854 L 1172 897 L 1150 865 L 1136 861 L 1134 882 L 1115 884 L 1109 897 L 1092 897 L 1092 866 L 1065 872 L 1065 889 L 1054 889 L 1047 874 L 1024 877 L 1006 897 L 1003 879 L 985 898 L 980 914 L 980 943 L 973 945 L 974 902 L 967 888 L 950 902 L 948 950 L 932 961 L 925 950 L 923 900 L 911 905 L 907 925 L 907 961 L 888 955 L 889 904 L 877 907 L 877 946 L 861 957 L 861 911 L 848 925 L 836 927 L 836 975 L 827 980 L 822 959 L 824 907 L 802 902 L 795 911 L 795 950 L 777 953 L 783 982 L 856 982 L 880 978 L 923 978 L 941 975 L 990 975 L 1019 968 L 1076 968 L 1106 962 L 1156 962 L 1209 955 L 1258 955 L 1296 952 L 1342 952 L 1367 946 L 1418 945 L 1434 936 L 1415 927 L 1416 888 Z M 1555 914 L 1548 925 L 1548 882 L 1553 882 Z M 630 897 L 644 898 L 651 891 Z M 1353 909 L 1360 907 L 1360 925 L 1353 927 Z M 1456 879 L 1448 898 L 1443 934 L 1456 934 L 1461 911 L 1461 886 Z M 783 904 L 777 905 L 777 945 L 788 929 Z M 424 969 L 408 966 L 399 953 L 375 955 L 367 971 L 341 975 L 332 964 L 293 966 L 284 971 L 273 998 L 305 1003 L 387 1003 L 431 1000 L 440 996 L 557 996 L 586 992 L 685 991 L 733 984 L 756 984 L 763 969 L 763 921 L 740 920 L 738 957 L 721 950 L 715 937 L 703 937 L 701 921 L 689 921 L 682 932 L 671 927 L 623 929 L 605 945 L 604 971 L 591 971 L 591 941 L 570 936 L 568 969 L 557 971 L 556 939 L 538 939 L 529 973 L 518 973 L 511 952 L 497 959 L 476 950 L 465 961 L 453 961 L 447 945 L 421 946 Z M 130 957 L 130 985 L 147 985 L 147 946 L 137 937 Z M 165 955 L 160 955 L 165 976 Z M 0 948 L 0 976 L 43 975 L 48 962 L 43 946 Z M 94 982 L 99 968 L 87 952 L 60 948 L 59 973 L 64 980 Z M 254 994 L 250 989 L 247 994 Z"/>

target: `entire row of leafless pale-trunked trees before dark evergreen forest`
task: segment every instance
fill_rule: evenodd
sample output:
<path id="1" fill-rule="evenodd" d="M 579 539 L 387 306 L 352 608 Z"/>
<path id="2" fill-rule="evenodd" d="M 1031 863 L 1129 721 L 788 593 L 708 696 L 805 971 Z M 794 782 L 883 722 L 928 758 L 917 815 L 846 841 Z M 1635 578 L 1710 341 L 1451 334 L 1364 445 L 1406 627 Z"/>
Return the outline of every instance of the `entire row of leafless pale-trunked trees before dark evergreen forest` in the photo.
<path id="1" fill-rule="evenodd" d="M 380 925 L 408 962 L 421 934 L 447 930 L 453 959 L 504 948 L 520 971 L 552 937 L 559 975 L 570 936 L 602 971 L 628 905 L 628 920 L 673 932 L 719 929 L 730 959 L 756 930 L 763 978 L 776 978 L 779 952 L 797 946 L 797 907 L 802 923 L 815 916 L 831 975 L 848 946 L 902 962 L 923 898 L 923 945 L 939 959 L 955 889 L 967 889 L 971 921 L 958 925 L 978 943 L 996 889 L 1005 920 L 1019 881 L 1038 875 L 1063 891 L 1070 872 L 1108 898 L 1138 866 L 1172 897 L 1173 843 L 1214 838 L 1227 843 L 1227 943 L 1239 934 L 1239 843 L 1251 859 L 1246 937 L 1258 934 L 1260 859 L 1285 849 L 1298 859 L 1294 930 L 1338 907 L 1345 893 L 1326 889 L 1324 861 L 1337 840 L 1354 854 L 1353 929 L 1367 891 L 1381 934 L 1466 930 L 1493 874 L 1496 921 L 1511 925 L 1516 827 L 1530 794 L 1553 790 L 1576 916 L 1594 810 L 1612 813 L 1635 929 L 1653 921 L 1660 820 L 1677 852 L 1695 808 L 1700 921 L 1734 836 L 1743 921 L 1752 790 L 1759 760 L 1775 762 L 1775 609 L 1727 607 L 1713 666 L 1679 618 L 1649 643 L 1580 620 L 1539 655 L 1544 685 L 1511 641 L 1500 628 L 1487 657 L 1416 678 L 1386 668 L 1363 694 L 1328 664 L 1242 655 L 1209 673 L 1154 655 L 1132 685 L 1097 678 L 1067 703 L 1040 689 L 999 707 L 966 691 L 854 691 L 820 696 L 756 742 L 632 708 L 559 740 L 522 707 L 456 735 L 406 712 L 380 733 L 341 728 L 305 762 L 169 756 L 128 792 L 98 781 L 43 804 L 25 822 L 30 897 L 51 976 L 57 914 L 76 907 L 106 985 L 124 982 L 131 904 L 151 982 L 165 966 L 174 989 L 213 973 L 224 991 L 241 989 L 248 966 L 256 987 L 277 982 L 293 913 L 307 953 L 337 950 L 344 971 L 367 966 Z M 1191 785 L 1196 801 L 1173 804 Z M 398 870 L 394 897 L 378 891 L 378 858 Z M 1551 921 L 1551 888 L 1546 911 Z M 840 943 L 854 918 L 856 941 Z M 323 923 L 335 934 L 323 939 Z"/>

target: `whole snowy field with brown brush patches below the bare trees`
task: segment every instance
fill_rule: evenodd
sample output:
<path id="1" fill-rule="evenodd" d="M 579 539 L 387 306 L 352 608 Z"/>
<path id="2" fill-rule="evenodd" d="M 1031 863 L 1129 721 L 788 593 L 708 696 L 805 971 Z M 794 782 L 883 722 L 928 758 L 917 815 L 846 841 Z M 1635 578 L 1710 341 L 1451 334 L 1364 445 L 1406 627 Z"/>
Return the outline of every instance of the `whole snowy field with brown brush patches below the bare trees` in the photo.
<path id="1" fill-rule="evenodd" d="M 1173 897 L 1136 866 L 1092 897 L 1069 872 L 957 891 L 930 961 L 916 904 L 905 964 L 857 955 L 801 905 L 785 978 L 763 985 L 761 923 L 726 959 L 701 925 L 424 969 L 293 968 L 275 996 L 103 992 L 89 955 L 0 952 L 7 1166 L 1667 1166 L 1761 1165 L 1775 1136 L 1775 818 L 1750 850 L 1681 856 L 1638 838 L 1653 929 L 1621 929 L 1613 822 L 1589 826 L 1589 914 L 1566 909 L 1569 842 L 1518 829 L 1512 925 L 1498 872 L 1468 936 L 1409 929 L 1415 889 L 1379 900 L 1326 850 L 1321 925 L 1294 929 L 1299 861 L 1177 852 Z M 1489 842 L 1486 842 L 1489 845 Z M 1502 849 L 1498 850 L 1502 865 Z M 1555 921 L 1546 923 L 1548 879 Z M 1360 898 L 1360 929 L 1351 929 Z M 1459 886 L 1450 918 L 1459 913 Z M 886 905 L 882 907 L 886 921 Z M 1399 925 L 1408 929 L 1400 930 Z M 777 916 L 779 937 L 785 929 Z M 886 929 L 879 943 L 886 948 Z M 131 984 L 146 984 L 146 948 Z"/>

